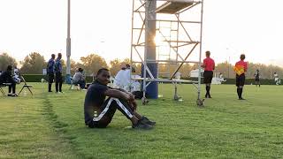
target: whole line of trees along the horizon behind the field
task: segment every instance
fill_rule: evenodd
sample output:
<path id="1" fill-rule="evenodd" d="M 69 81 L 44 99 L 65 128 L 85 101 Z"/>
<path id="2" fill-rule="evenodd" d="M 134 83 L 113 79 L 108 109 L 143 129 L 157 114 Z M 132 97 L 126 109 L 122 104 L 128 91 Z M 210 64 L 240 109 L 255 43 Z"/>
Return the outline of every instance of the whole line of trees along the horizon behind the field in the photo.
<path id="1" fill-rule="evenodd" d="M 49 59 L 44 59 L 44 57 L 38 52 L 32 52 L 27 57 L 25 57 L 19 63 L 15 58 L 10 57 L 7 53 L 0 54 L 0 71 L 5 71 L 8 64 L 13 66 L 20 65 L 19 72 L 22 74 L 42 74 L 42 69 L 45 69 L 47 66 L 47 61 Z M 114 59 L 111 60 L 109 64 L 106 63 L 103 57 L 96 55 L 95 53 L 89 54 L 87 57 L 80 57 L 79 62 L 75 62 L 71 59 L 71 74 L 74 74 L 77 68 L 83 68 L 86 75 L 93 75 L 101 67 L 110 69 L 112 75 L 116 75 L 119 72 L 122 64 L 130 64 L 130 59 Z M 62 62 L 63 72 L 65 73 L 65 61 Z M 141 74 L 142 64 L 134 64 L 136 74 Z M 179 64 L 173 63 L 164 63 L 158 65 L 159 76 L 169 77 L 172 75 L 172 72 L 178 68 Z M 198 68 L 198 64 L 183 64 L 180 67 L 179 72 L 182 77 L 188 77 L 189 72 Z M 266 64 L 254 64 L 249 63 L 249 69 L 246 74 L 248 78 L 254 78 L 254 73 L 256 70 L 260 71 L 262 79 L 271 79 L 273 78 L 273 73 L 277 72 L 279 77 L 283 77 L 283 68 L 276 65 L 266 65 Z M 215 73 L 222 73 L 225 78 L 234 78 L 235 73 L 233 72 L 233 64 L 228 62 L 220 63 L 216 65 Z"/>

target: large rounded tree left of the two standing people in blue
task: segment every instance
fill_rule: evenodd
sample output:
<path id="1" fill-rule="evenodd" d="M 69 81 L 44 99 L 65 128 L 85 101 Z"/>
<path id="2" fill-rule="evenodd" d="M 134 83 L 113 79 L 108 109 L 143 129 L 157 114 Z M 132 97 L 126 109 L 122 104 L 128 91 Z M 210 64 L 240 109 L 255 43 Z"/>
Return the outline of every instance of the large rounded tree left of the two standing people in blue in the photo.
<path id="1" fill-rule="evenodd" d="M 42 69 L 47 66 L 44 57 L 37 52 L 30 53 L 20 64 L 20 72 L 26 74 L 42 74 Z"/>

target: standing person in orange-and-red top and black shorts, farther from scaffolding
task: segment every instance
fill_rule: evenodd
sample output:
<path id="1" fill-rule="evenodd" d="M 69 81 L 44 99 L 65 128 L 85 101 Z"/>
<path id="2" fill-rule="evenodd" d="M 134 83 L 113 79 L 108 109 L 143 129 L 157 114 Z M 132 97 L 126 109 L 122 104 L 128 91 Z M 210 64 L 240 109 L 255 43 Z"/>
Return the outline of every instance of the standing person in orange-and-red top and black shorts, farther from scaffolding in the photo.
<path id="1" fill-rule="evenodd" d="M 245 72 L 248 70 L 248 64 L 247 62 L 244 62 L 246 56 L 245 54 L 241 54 L 240 61 L 238 61 L 234 66 L 234 71 L 236 72 L 236 86 L 237 86 L 237 94 L 239 97 L 239 100 L 245 100 L 242 98 L 242 89 L 245 85 Z"/>

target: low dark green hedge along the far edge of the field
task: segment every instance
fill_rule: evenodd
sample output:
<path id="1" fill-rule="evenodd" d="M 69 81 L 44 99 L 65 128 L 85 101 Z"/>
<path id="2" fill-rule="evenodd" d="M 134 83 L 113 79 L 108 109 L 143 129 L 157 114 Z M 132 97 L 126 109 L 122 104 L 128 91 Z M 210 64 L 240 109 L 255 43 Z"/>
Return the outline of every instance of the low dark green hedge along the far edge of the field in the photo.
<path id="1" fill-rule="evenodd" d="M 42 79 L 47 80 L 48 76 L 47 75 L 42 75 L 42 74 L 24 74 L 23 75 L 24 78 L 27 80 L 27 82 L 41 82 Z M 63 79 L 65 77 L 63 76 Z M 197 80 L 197 78 L 182 78 L 182 79 L 186 79 L 186 80 Z M 86 77 L 87 83 L 90 83 L 93 81 L 93 77 L 92 76 L 87 76 Z M 65 80 L 64 80 L 65 81 Z M 202 83 L 203 83 L 203 79 L 202 79 Z M 222 84 L 235 84 L 236 83 L 236 79 L 226 79 L 225 82 L 222 82 Z M 274 85 L 274 79 L 260 79 L 260 83 L 262 85 Z M 245 82 L 246 85 L 250 85 L 250 84 L 255 84 L 255 79 L 246 79 Z"/>

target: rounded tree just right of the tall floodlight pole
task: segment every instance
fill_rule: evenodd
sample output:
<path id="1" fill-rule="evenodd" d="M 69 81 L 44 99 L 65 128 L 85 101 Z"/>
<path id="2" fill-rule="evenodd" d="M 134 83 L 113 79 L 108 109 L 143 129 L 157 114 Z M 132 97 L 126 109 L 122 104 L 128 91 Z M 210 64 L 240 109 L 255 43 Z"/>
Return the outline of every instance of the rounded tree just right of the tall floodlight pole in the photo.
<path id="1" fill-rule="evenodd" d="M 102 67 L 108 68 L 105 59 L 96 54 L 80 57 L 80 61 L 84 65 L 86 75 L 94 75 Z"/>

